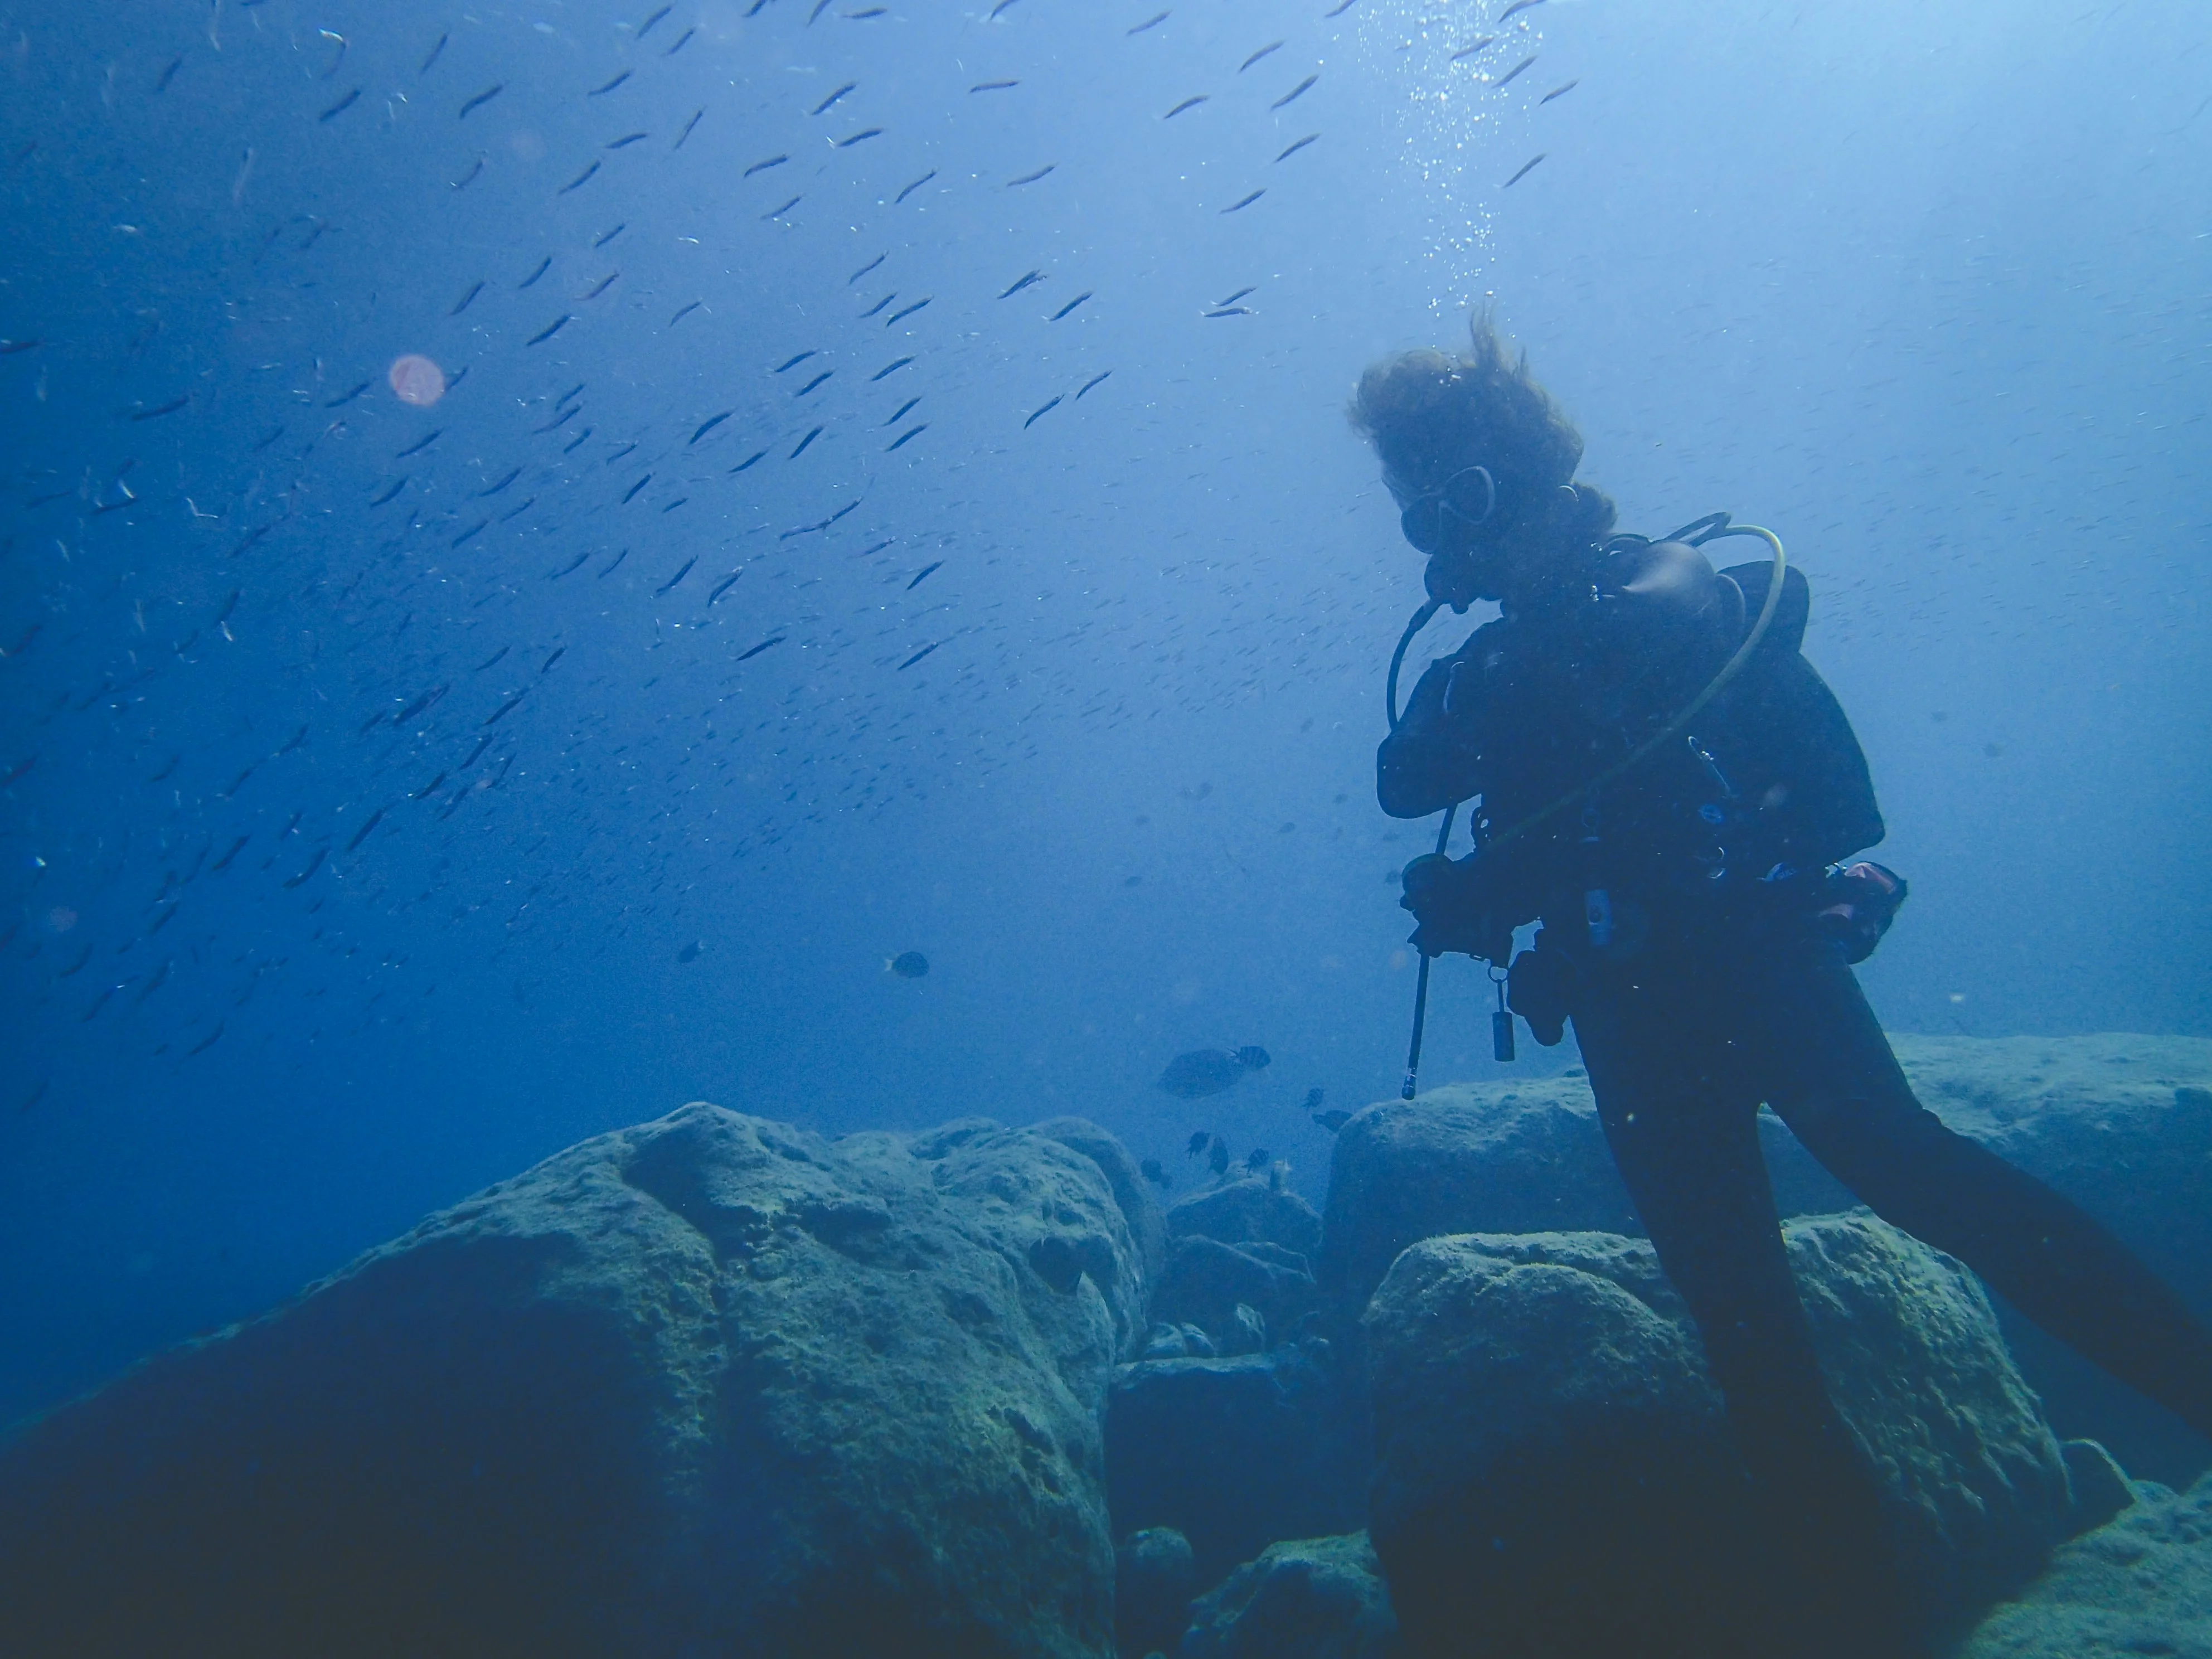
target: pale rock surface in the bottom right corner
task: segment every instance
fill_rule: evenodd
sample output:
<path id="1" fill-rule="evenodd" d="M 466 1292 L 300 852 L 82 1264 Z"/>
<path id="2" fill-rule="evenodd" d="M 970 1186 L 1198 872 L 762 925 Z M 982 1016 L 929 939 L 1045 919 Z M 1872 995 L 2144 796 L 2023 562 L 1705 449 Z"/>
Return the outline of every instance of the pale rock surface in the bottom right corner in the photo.
<path id="1" fill-rule="evenodd" d="M 2212 1475 L 2064 1544 L 1958 1659 L 2212 1659 Z"/>

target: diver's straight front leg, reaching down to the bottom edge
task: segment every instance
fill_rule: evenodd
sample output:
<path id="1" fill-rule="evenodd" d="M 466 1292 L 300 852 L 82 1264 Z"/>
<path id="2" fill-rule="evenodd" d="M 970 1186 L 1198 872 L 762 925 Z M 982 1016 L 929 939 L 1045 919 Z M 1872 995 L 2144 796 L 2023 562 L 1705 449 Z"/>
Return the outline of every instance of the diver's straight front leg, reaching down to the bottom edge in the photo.
<path id="1" fill-rule="evenodd" d="M 1728 1042 L 1719 984 L 1590 987 L 1575 1040 L 1599 1119 L 1659 1265 L 1681 1292 L 1801 1586 L 1807 1655 L 1902 1655 L 1880 1482 L 1827 1396 L 1759 1152 L 1756 1091 Z"/>

